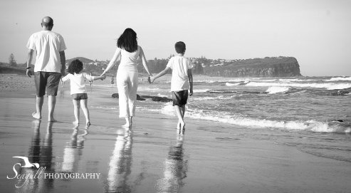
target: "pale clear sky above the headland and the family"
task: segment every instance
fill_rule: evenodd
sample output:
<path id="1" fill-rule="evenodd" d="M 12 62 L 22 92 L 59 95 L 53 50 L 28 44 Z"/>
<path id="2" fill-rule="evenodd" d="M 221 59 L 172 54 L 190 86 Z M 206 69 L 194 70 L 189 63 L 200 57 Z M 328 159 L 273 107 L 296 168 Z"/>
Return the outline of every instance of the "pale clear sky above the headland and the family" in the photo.
<path id="1" fill-rule="evenodd" d="M 248 59 L 292 56 L 302 75 L 351 75 L 349 0 L 0 0 L 0 62 L 26 62 L 26 43 L 51 16 L 66 59 L 110 60 L 132 28 L 147 60 L 186 57 Z"/>

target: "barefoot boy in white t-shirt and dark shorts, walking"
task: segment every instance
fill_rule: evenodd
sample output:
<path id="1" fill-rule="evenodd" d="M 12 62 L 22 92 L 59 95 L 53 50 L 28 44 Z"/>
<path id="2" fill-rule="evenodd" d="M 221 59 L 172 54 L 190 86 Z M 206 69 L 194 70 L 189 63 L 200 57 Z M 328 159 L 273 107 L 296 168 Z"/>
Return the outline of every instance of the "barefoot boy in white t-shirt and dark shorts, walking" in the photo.
<path id="1" fill-rule="evenodd" d="M 177 129 L 184 130 L 184 113 L 185 104 L 188 100 L 188 90 L 193 94 L 192 87 L 192 68 L 194 67 L 192 61 L 184 57 L 185 43 L 182 41 L 177 42 L 175 45 L 177 56 L 169 59 L 166 68 L 163 71 L 150 77 L 150 82 L 154 82 L 156 78 L 165 75 L 169 69 L 172 69 L 171 91 L 174 110 L 178 117 Z"/>

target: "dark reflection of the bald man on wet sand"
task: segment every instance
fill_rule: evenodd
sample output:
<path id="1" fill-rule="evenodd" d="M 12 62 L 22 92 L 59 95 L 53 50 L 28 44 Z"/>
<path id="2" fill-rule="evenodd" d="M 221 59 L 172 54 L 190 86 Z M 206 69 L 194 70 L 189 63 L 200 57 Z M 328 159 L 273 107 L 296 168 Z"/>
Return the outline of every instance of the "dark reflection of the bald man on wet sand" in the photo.
<path id="1" fill-rule="evenodd" d="M 16 182 L 16 192 L 50 192 L 53 189 L 53 179 L 44 179 L 43 174 L 53 171 L 53 148 L 52 148 L 52 127 L 53 122 L 49 122 L 46 127 L 46 135 L 41 142 L 40 126 L 41 120 L 32 122 L 33 134 L 31 145 L 28 150 L 28 161 L 38 163 L 36 167 L 18 167 L 19 175 L 23 175 L 28 179 L 19 179 Z M 25 156 L 25 155 L 23 155 Z M 21 161 L 23 166 L 23 161 Z M 45 182 L 44 182 L 45 180 Z"/>

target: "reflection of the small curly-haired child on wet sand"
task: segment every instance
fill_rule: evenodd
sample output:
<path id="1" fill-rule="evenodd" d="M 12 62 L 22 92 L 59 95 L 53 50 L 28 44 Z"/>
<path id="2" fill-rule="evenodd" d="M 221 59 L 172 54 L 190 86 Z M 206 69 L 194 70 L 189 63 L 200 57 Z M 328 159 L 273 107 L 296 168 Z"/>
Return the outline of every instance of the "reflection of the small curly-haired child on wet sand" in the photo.
<path id="1" fill-rule="evenodd" d="M 73 127 L 73 133 L 70 141 L 67 142 L 65 150 L 63 150 L 63 163 L 61 172 L 77 172 L 81 155 L 83 155 L 83 147 L 85 135 L 88 135 L 88 127 L 85 127 L 84 133 L 78 135 L 78 125 Z"/>

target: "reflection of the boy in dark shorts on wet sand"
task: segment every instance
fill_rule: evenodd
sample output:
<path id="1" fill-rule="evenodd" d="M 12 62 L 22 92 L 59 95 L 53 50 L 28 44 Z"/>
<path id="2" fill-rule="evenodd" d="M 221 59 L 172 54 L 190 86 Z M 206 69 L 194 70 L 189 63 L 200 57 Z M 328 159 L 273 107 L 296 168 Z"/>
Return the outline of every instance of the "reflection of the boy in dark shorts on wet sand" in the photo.
<path id="1" fill-rule="evenodd" d="M 183 179 L 187 177 L 188 160 L 184 157 L 184 131 L 177 134 L 175 145 L 169 148 L 164 161 L 164 177 L 157 181 L 158 192 L 182 192 Z"/>

